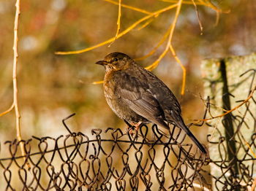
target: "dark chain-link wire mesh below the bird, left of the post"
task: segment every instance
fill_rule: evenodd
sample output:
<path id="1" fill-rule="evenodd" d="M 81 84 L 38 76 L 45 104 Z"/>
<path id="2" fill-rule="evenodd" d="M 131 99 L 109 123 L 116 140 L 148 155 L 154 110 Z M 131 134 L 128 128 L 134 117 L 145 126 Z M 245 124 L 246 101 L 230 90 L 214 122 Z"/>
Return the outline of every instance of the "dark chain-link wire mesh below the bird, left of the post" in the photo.
<path id="1" fill-rule="evenodd" d="M 7 141 L 9 156 L 1 158 L 5 190 L 187 190 L 203 184 L 208 163 L 192 144 L 161 133 L 156 125 L 139 135 L 120 129 L 91 130 L 67 136 Z M 176 128 L 173 128 L 174 130 Z M 178 135 L 178 134 L 177 134 Z M 178 136 L 177 136 L 178 137 Z M 108 139 L 106 139 L 108 138 Z M 28 166 L 29 164 L 29 166 Z M 30 168 L 30 169 L 29 169 Z M 17 176 L 17 177 L 15 177 Z"/>

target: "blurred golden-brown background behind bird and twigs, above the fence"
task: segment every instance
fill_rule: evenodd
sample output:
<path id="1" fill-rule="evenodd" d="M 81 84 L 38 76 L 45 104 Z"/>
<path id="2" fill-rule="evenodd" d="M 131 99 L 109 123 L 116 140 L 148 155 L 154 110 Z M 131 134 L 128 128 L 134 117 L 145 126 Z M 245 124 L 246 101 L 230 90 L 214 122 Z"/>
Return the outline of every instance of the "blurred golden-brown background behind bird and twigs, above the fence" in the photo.
<path id="1" fill-rule="evenodd" d="M 157 0 L 122 1 L 154 12 L 170 2 Z M 206 58 L 246 55 L 256 51 L 255 0 L 212 1 L 222 13 L 216 25 L 216 12 L 198 6 L 203 34 L 192 4 L 184 4 L 173 36 L 173 47 L 187 69 L 185 95 L 181 98 L 182 70 L 170 52 L 159 63 L 154 74 L 162 79 L 181 102 L 184 120 L 189 123 L 203 117 L 205 106 L 200 63 Z M 23 139 L 34 136 L 67 134 L 61 120 L 69 120 L 69 128 L 90 133 L 92 128 L 126 128 L 108 107 L 102 85 L 104 69 L 94 63 L 110 52 L 124 52 L 132 58 L 146 55 L 165 34 L 173 21 L 174 11 L 159 15 L 141 30 L 135 28 L 105 45 L 78 55 L 55 55 L 56 51 L 80 50 L 103 42 L 116 34 L 118 6 L 101 0 L 23 0 L 20 4 L 18 104 Z M 143 13 L 122 8 L 121 31 Z M 15 1 L 0 0 L 0 112 L 12 104 L 12 45 Z M 165 49 L 165 45 L 138 63 L 148 66 Z M 206 142 L 206 127 L 192 131 Z M 1 142 L 15 139 L 15 112 L 0 117 Z"/>

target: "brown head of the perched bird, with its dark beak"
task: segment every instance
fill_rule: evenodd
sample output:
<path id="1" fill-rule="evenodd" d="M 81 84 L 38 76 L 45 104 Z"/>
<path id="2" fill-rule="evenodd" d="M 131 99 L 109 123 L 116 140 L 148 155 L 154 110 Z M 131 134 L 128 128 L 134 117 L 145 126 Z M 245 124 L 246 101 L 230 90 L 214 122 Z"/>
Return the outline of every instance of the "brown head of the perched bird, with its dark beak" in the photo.
<path id="1" fill-rule="evenodd" d="M 97 61 L 97 64 L 105 66 L 106 71 L 118 71 L 127 69 L 134 61 L 121 52 L 113 52 L 106 55 L 103 61 Z"/>

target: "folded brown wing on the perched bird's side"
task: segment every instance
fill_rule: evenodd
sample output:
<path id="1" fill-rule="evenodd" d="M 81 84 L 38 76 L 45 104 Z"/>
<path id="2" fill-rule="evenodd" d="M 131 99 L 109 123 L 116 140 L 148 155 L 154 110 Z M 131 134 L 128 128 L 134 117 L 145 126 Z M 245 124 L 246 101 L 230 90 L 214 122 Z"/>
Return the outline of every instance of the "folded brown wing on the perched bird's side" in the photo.
<path id="1" fill-rule="evenodd" d="M 122 101 L 140 116 L 157 125 L 168 128 L 164 122 L 164 112 L 157 98 L 151 93 L 147 82 L 143 82 L 137 77 L 126 73 L 121 73 L 120 75 L 123 80 L 118 82 L 116 90 Z"/>

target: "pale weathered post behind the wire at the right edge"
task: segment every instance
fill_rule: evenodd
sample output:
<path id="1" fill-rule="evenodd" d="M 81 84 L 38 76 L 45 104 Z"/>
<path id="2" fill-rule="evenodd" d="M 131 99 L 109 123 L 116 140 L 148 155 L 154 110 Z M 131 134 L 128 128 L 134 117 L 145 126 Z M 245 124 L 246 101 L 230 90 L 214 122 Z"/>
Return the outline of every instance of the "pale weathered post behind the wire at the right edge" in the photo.
<path id="1" fill-rule="evenodd" d="M 201 69 L 204 95 L 211 102 L 207 118 L 236 108 L 255 89 L 256 54 L 208 59 L 203 61 Z M 256 100 L 256 93 L 252 98 Z M 211 174 L 217 178 L 213 179 L 213 190 L 222 190 L 226 185 L 231 190 L 241 190 L 243 184 L 251 181 L 250 177 L 245 178 L 245 168 L 255 178 L 256 149 L 252 134 L 256 128 L 256 104 L 252 98 L 233 112 L 207 121 L 211 125 L 208 149 L 211 160 L 215 161 L 211 163 Z"/>

